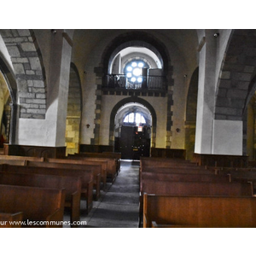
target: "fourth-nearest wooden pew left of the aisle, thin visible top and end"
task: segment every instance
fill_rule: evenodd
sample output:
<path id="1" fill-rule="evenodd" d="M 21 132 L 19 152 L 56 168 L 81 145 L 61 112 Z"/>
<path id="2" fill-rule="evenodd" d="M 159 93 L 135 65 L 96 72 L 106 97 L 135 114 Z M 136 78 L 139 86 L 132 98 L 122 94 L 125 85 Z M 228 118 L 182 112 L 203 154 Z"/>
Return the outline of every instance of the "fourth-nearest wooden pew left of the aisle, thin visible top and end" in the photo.
<path id="1" fill-rule="evenodd" d="M 80 177 L 82 188 L 81 196 L 84 195 L 86 199 L 86 211 L 90 212 L 93 203 L 93 175 L 90 171 L 72 170 L 61 168 L 49 168 L 42 166 L 0 166 L 0 172 L 15 172 L 15 173 L 33 173 L 43 175 L 56 175 L 67 177 Z"/>

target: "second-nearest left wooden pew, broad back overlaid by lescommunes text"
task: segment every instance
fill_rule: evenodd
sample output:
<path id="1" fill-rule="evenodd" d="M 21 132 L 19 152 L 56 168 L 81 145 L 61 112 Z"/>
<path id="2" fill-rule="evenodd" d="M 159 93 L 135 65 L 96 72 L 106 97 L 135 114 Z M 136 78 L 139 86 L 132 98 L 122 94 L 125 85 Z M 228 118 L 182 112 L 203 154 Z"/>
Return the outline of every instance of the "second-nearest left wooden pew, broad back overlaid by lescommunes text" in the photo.
<path id="1" fill-rule="evenodd" d="M 0 184 L 1 212 L 22 212 L 22 227 L 62 227 L 65 189 Z"/>

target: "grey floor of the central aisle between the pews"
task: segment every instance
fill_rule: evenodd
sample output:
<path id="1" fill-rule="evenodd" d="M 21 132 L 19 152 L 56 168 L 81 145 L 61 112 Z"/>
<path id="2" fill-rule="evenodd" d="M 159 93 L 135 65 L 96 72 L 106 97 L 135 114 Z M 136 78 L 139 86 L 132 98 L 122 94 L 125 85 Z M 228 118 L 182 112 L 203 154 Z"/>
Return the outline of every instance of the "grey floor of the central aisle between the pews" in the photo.
<path id="1" fill-rule="evenodd" d="M 85 201 L 81 201 L 80 228 L 138 228 L 139 162 L 121 161 L 121 169 L 114 183 L 101 191 L 99 201 L 93 201 L 88 215 L 83 214 Z M 68 220 L 68 216 L 65 216 Z"/>

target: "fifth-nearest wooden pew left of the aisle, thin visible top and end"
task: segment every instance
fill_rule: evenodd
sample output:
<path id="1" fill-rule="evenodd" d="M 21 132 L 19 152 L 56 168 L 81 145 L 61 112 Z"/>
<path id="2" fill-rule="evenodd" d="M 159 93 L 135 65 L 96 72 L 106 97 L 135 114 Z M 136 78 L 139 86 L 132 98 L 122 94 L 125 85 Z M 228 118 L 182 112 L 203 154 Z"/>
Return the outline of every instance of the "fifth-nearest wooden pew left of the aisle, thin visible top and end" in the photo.
<path id="1" fill-rule="evenodd" d="M 101 196 L 101 173 L 102 166 L 100 165 L 79 165 L 70 163 L 68 160 L 60 160 L 60 162 L 34 162 L 26 161 L 26 166 L 38 166 L 46 168 L 58 168 L 58 169 L 68 169 L 68 170 L 81 170 L 93 173 L 93 186 L 96 189 L 96 200 Z"/>

